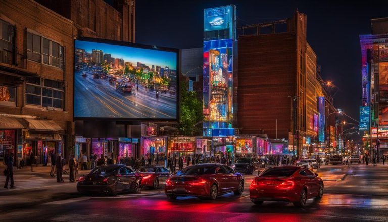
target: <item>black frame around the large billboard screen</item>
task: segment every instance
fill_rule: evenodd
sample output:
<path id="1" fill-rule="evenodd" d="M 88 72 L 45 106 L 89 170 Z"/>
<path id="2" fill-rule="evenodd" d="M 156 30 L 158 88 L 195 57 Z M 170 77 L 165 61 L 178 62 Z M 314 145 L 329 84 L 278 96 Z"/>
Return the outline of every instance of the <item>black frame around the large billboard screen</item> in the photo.
<path id="1" fill-rule="evenodd" d="M 75 42 L 76 41 L 89 41 L 95 43 L 105 43 L 119 46 L 127 46 L 133 48 L 141 49 L 150 49 L 150 50 L 159 50 L 165 52 L 174 52 L 176 53 L 176 118 L 112 118 L 112 117 L 76 117 L 75 113 Z M 181 50 L 169 47 L 160 47 L 145 45 L 140 43 L 125 42 L 125 41 L 116 41 L 110 39 L 101 39 L 101 38 L 89 38 L 89 37 L 79 37 L 73 41 L 73 122 L 76 120 L 85 120 L 85 121 L 149 121 L 149 122 L 178 122 L 180 119 L 180 74 L 181 74 Z"/>

